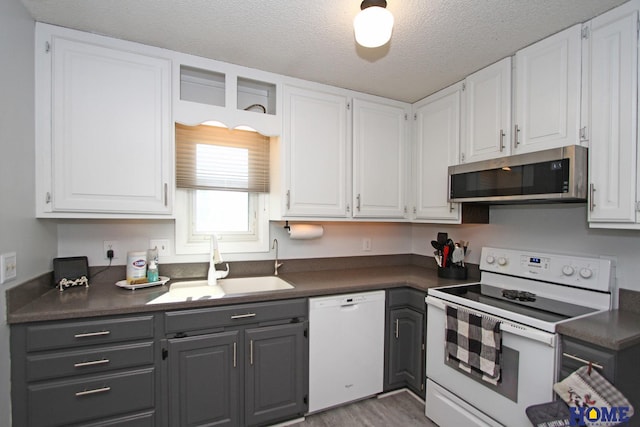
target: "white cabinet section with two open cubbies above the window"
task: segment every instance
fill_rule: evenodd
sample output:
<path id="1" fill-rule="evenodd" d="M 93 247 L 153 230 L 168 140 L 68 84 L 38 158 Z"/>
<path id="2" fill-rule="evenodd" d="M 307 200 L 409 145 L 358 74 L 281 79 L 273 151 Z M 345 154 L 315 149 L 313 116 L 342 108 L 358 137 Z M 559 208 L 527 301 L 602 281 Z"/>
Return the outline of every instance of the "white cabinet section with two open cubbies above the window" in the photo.
<path id="1" fill-rule="evenodd" d="M 214 121 L 280 135 L 281 76 L 180 53 L 173 60 L 176 122 L 193 126 Z"/>

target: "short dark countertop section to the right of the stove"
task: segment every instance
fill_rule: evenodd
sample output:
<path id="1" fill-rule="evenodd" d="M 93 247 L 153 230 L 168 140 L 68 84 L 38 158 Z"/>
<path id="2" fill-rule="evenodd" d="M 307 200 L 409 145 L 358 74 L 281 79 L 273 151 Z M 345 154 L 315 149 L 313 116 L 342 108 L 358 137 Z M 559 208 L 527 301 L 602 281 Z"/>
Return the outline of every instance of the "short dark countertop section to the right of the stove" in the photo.
<path id="1" fill-rule="evenodd" d="M 640 314 L 629 310 L 597 313 L 559 324 L 558 333 L 618 351 L 640 344 Z"/>

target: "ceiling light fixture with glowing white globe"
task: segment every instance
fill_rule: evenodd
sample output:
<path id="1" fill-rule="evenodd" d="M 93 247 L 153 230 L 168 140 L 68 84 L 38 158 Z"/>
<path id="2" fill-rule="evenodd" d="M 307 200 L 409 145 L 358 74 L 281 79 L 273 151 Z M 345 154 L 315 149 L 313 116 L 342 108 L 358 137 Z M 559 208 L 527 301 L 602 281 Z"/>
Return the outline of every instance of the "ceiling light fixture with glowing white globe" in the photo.
<path id="1" fill-rule="evenodd" d="M 391 39 L 393 15 L 386 0 L 363 0 L 353 20 L 356 41 L 364 47 L 379 47 Z"/>

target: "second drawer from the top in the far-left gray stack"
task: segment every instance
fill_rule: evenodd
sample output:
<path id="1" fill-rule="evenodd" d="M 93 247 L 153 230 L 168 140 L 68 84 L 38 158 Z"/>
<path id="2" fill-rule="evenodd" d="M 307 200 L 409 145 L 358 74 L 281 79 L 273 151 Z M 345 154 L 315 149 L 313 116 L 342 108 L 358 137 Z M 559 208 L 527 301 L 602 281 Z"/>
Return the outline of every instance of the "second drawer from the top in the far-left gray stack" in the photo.
<path id="1" fill-rule="evenodd" d="M 153 364 L 153 342 L 27 356 L 27 381 Z"/>

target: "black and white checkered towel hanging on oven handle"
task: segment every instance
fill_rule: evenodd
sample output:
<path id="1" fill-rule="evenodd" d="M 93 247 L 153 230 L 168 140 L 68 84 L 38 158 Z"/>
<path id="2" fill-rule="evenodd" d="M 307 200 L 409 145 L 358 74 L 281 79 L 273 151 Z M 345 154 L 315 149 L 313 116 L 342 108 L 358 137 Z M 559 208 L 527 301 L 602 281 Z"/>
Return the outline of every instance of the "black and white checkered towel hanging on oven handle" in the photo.
<path id="1" fill-rule="evenodd" d="M 491 384 L 500 381 L 500 322 L 454 307 L 446 307 L 446 361 Z"/>

